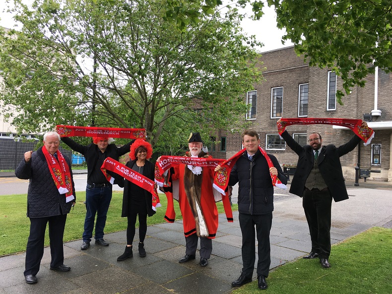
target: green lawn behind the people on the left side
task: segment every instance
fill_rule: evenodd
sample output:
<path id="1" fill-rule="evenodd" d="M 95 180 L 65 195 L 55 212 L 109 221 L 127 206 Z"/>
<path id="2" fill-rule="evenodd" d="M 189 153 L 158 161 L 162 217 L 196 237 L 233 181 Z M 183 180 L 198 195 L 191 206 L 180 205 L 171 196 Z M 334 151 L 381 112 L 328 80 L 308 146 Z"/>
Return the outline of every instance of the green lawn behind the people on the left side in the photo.
<path id="1" fill-rule="evenodd" d="M 165 222 L 167 199 L 164 194 L 159 194 L 162 207 L 157 208 L 154 216 L 147 218 L 147 225 Z M 74 209 L 67 215 L 65 223 L 64 241 L 81 239 L 83 234 L 86 208 L 83 203 L 86 199 L 85 192 L 76 193 Z M 113 192 L 110 203 L 108 218 L 106 220 L 105 233 L 112 233 L 127 229 L 127 218 L 121 217 L 123 205 L 123 192 Z M 26 217 L 27 195 L 4 195 L 0 196 L 0 256 L 15 252 L 25 251 L 27 238 L 30 230 L 30 220 Z M 222 202 L 217 203 L 218 212 L 223 213 Z M 181 212 L 178 202 L 174 201 L 176 220 L 181 220 Z M 237 205 L 233 204 L 233 210 Z M 136 222 L 138 226 L 138 222 Z M 94 235 L 94 232 L 93 232 Z M 46 229 L 45 245 L 49 245 L 48 227 Z"/>

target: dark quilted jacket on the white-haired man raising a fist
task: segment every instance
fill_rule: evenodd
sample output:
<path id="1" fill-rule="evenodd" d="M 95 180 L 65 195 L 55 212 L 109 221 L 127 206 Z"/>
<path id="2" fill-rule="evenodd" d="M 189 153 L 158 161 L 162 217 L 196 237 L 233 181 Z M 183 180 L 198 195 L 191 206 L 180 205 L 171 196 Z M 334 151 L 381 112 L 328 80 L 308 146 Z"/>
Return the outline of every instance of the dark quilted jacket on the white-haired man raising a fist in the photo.
<path id="1" fill-rule="evenodd" d="M 23 160 L 15 170 L 15 175 L 19 179 L 30 179 L 27 192 L 27 217 L 44 218 L 60 216 L 69 213 L 72 202 L 75 202 L 75 185 L 73 183 L 73 175 L 71 162 L 69 158 L 63 154 L 71 173 L 72 194 L 74 200 L 65 203 L 65 194 L 60 194 L 53 181 L 48 163 L 46 161 L 42 148 L 33 152 L 28 162 Z"/>

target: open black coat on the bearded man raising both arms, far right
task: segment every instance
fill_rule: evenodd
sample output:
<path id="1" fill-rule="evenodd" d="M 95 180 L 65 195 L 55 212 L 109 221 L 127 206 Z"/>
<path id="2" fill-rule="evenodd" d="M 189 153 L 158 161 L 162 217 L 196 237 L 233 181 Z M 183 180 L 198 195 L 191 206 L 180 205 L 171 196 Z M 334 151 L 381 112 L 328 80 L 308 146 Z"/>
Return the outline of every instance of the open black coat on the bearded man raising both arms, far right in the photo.
<path id="1" fill-rule="evenodd" d="M 291 181 L 290 193 L 302 197 L 306 179 L 308 178 L 315 162 L 313 148 L 310 145 L 302 147 L 294 141 L 287 131 L 283 132 L 282 138 L 299 156 L 297 168 L 295 169 L 293 180 Z M 357 135 L 354 135 L 349 142 L 339 147 L 332 144 L 323 146 L 319 154 L 318 160 L 320 173 L 323 176 L 323 179 L 326 182 L 329 192 L 335 202 L 348 199 L 340 163 L 340 156 L 352 151 L 360 141 L 361 139 Z"/>

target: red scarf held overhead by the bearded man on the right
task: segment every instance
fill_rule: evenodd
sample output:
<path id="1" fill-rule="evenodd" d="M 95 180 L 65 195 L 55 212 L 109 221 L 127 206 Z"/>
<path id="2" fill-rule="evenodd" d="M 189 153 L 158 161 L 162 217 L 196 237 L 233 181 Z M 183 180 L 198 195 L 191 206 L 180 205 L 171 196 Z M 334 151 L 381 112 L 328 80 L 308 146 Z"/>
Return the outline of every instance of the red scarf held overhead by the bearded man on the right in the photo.
<path id="1" fill-rule="evenodd" d="M 362 127 L 362 120 L 347 118 L 282 118 L 276 123 L 281 136 L 287 126 L 291 125 L 335 125 L 351 129 L 364 141 L 363 145 L 369 145 L 374 138 L 374 131 L 369 127 Z"/>

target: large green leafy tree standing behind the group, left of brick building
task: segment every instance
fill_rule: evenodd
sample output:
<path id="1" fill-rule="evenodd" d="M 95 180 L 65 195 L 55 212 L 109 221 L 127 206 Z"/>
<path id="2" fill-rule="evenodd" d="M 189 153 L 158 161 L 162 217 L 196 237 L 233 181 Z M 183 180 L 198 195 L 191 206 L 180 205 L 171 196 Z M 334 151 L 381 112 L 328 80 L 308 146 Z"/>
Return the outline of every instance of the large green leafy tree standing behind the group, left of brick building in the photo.
<path id="1" fill-rule="evenodd" d="M 19 129 L 142 127 L 155 145 L 176 119 L 241 127 L 243 95 L 261 72 L 258 43 L 243 35 L 236 9 L 200 15 L 180 31 L 163 19 L 165 0 L 14 2 L 22 28 L 0 36 L 0 74 L 1 99 L 19 110 Z"/>

